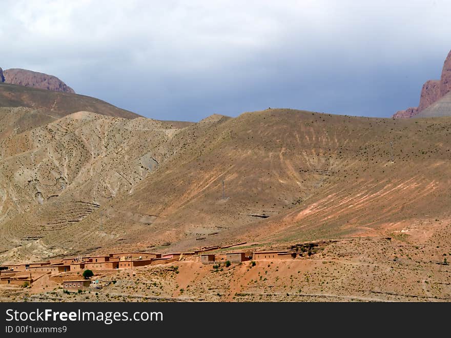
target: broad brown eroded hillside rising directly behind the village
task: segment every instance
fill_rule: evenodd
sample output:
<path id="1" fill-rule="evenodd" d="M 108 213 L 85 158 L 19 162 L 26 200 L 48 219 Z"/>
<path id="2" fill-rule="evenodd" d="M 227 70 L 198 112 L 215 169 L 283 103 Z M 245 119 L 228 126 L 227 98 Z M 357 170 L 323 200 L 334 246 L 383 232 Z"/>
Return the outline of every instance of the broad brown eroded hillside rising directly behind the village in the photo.
<path id="1" fill-rule="evenodd" d="M 450 241 L 440 221 L 451 217 L 448 117 L 268 109 L 174 126 L 30 108 L 1 115 L 14 126 L 0 131 L 3 261 L 406 228 L 418 229 L 415 241 Z"/>

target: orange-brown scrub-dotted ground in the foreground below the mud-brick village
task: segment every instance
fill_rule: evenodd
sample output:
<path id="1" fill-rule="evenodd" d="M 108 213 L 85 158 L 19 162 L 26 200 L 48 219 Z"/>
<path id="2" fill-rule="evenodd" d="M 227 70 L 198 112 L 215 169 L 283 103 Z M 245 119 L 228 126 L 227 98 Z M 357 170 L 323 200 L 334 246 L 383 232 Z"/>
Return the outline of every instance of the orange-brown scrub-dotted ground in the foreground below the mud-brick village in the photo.
<path id="1" fill-rule="evenodd" d="M 449 249 L 409 243 L 411 235 L 356 237 L 325 245 L 310 257 L 226 267 L 179 261 L 95 272 L 98 290 L 64 293 L 55 278 L 32 288 L 1 286 L 13 302 L 449 302 Z M 449 246 L 446 246 L 449 248 Z M 445 251 L 443 251 L 445 250 Z M 61 275 L 61 280 L 70 276 Z M 74 275 L 72 275 L 73 277 Z"/>

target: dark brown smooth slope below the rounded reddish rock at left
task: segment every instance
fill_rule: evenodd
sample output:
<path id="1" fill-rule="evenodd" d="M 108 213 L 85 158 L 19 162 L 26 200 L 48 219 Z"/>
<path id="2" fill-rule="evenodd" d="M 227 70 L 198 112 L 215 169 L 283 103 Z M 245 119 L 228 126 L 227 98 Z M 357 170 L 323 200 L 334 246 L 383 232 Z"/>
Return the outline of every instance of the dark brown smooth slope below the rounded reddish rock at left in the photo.
<path id="1" fill-rule="evenodd" d="M 140 116 L 90 96 L 7 83 L 0 83 L 0 107 L 44 109 L 47 114 L 57 117 L 63 117 L 77 111 L 92 111 L 122 118 Z"/>

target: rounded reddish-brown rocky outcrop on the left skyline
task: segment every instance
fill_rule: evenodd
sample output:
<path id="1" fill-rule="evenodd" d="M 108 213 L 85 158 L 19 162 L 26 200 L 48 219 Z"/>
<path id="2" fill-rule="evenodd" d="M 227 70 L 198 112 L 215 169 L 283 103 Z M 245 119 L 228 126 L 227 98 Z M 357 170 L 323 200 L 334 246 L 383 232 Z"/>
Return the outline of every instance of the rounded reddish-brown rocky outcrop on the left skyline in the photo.
<path id="1" fill-rule="evenodd" d="M 5 76 L 5 83 L 51 91 L 75 93 L 71 87 L 53 75 L 33 72 L 26 69 L 6 69 L 3 71 L 3 74 Z"/>

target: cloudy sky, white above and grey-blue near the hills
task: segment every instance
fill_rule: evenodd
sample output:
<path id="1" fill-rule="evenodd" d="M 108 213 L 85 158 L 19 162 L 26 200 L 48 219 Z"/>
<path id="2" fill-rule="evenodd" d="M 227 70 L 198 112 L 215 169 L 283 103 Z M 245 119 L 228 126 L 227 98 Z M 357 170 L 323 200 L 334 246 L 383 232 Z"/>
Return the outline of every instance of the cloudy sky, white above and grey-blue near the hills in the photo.
<path id="1" fill-rule="evenodd" d="M 0 0 L 0 67 L 159 120 L 295 108 L 389 117 L 451 49 L 451 2 Z"/>

